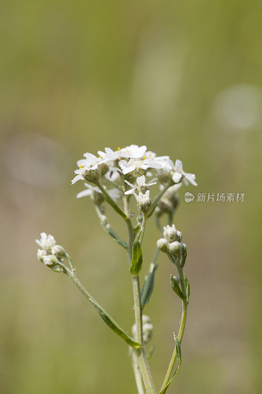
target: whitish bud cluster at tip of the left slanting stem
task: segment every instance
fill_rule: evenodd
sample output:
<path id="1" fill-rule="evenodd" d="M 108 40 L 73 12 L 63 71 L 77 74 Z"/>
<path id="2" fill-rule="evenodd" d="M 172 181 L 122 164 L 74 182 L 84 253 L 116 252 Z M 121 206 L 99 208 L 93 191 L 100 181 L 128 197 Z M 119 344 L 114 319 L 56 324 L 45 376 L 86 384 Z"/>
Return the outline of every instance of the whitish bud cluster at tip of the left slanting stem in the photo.
<path id="1" fill-rule="evenodd" d="M 36 253 L 37 259 L 54 271 L 61 272 L 62 268 L 59 266 L 59 263 L 63 262 L 63 257 L 65 256 L 64 248 L 57 244 L 53 235 L 47 235 L 45 232 L 41 232 L 40 235 L 40 240 L 35 240 L 37 245 L 41 247 Z"/>

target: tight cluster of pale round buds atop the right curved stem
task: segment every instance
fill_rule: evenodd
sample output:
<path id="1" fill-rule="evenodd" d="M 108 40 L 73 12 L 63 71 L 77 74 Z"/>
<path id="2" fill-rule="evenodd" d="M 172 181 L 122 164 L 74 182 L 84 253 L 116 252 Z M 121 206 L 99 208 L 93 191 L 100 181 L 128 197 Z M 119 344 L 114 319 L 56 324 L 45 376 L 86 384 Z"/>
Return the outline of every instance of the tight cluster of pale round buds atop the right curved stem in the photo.
<path id="1" fill-rule="evenodd" d="M 156 245 L 164 253 L 173 255 L 175 258 L 182 258 L 182 265 L 185 263 L 187 249 L 181 242 L 182 233 L 176 230 L 175 225 L 165 226 L 163 238 L 158 239 Z"/>

